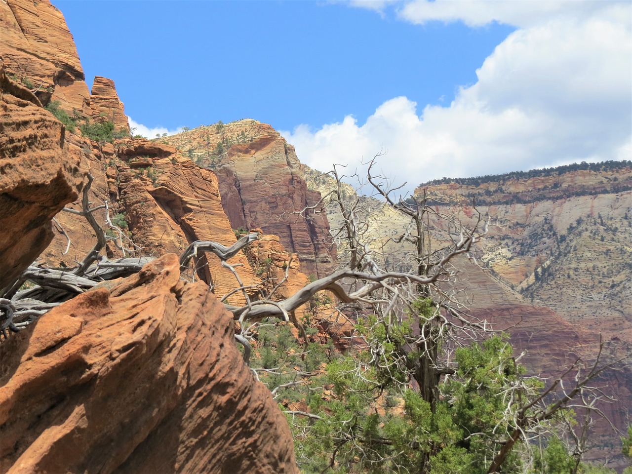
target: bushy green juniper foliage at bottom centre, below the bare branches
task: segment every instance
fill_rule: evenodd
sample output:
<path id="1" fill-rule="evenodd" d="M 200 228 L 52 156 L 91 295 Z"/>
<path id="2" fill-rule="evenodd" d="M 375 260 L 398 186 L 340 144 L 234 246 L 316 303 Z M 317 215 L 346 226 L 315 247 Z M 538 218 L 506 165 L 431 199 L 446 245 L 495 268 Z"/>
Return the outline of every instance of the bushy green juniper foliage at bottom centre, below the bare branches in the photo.
<path id="1" fill-rule="evenodd" d="M 430 300 L 418 301 L 415 310 L 423 318 L 434 311 Z M 288 373 L 292 374 L 291 381 L 299 383 L 283 388 L 280 398 L 284 404 L 304 401 L 307 412 L 315 415 L 288 415 L 304 473 L 322 472 L 333 463 L 331 471 L 340 473 L 482 474 L 501 447 L 499 434 L 514 429 L 506 411 L 516 404 L 508 401 L 506 389 L 524 368 L 514 361 L 506 336 L 456 349 L 456 373 L 439 385 L 441 398 L 433 410 L 410 384 L 410 360 L 420 354 L 400 350 L 413 336 L 410 320 L 388 324 L 370 315 L 356 325 L 367 346 L 351 346 L 339 355 L 312 343 L 305 361 L 296 357 L 300 349 L 288 328 L 276 329 L 276 336 L 260 332 L 262 345 L 254 360 L 258 367 L 274 369 L 260 373 L 270 389 L 287 384 Z M 317 370 L 321 363 L 326 364 L 324 370 Z M 301 380 L 297 368 L 316 372 Z M 522 396 L 542 388 L 535 379 L 521 382 L 526 387 Z M 503 472 L 525 471 L 526 449 L 514 448 Z M 568 472 L 571 462 L 557 440 L 540 456 L 540 466 L 548 467 L 539 472 Z"/>

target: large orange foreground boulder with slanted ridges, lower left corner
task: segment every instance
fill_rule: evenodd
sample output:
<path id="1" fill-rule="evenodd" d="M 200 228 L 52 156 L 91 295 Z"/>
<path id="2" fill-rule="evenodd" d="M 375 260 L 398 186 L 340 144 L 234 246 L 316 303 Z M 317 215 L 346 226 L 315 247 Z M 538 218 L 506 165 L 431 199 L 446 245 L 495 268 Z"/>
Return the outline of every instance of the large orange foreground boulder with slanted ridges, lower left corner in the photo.
<path id="1" fill-rule="evenodd" d="M 298 473 L 231 315 L 165 255 L 0 344 L 0 471 Z"/>

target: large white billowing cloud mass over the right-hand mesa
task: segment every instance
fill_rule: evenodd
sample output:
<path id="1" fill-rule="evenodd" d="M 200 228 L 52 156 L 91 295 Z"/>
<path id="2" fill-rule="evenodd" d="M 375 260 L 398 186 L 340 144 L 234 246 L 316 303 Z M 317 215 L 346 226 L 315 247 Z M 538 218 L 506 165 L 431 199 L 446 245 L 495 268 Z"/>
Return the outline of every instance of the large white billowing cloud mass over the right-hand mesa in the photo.
<path id="1" fill-rule="evenodd" d="M 347 116 L 283 132 L 309 166 L 378 163 L 410 191 L 442 176 L 478 176 L 574 161 L 632 159 L 632 32 L 628 2 L 418 1 L 413 23 L 518 26 L 449 106 L 387 100 L 366 123 Z"/>

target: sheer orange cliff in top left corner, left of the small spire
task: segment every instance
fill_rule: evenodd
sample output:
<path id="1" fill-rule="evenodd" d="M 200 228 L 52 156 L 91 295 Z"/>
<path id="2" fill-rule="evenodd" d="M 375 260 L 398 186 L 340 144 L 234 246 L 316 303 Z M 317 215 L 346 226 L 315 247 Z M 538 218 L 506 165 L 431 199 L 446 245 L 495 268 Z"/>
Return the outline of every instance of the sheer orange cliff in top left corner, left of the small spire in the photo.
<path id="1" fill-rule="evenodd" d="M 0 57 L 8 75 L 46 104 L 90 116 L 90 97 L 73 36 L 58 8 L 47 0 L 0 2 Z"/>

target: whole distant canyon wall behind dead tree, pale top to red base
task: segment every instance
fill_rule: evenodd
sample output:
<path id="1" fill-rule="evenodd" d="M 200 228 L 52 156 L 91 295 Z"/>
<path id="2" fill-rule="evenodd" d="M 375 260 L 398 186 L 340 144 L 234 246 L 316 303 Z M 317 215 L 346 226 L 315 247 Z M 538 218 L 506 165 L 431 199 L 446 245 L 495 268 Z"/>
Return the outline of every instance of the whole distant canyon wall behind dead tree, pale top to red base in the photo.
<path id="1" fill-rule="evenodd" d="M 559 375 L 578 356 L 592 362 L 600 334 L 619 355 L 632 350 L 632 170 L 625 163 L 611 166 L 616 169 L 489 177 L 478 185 L 430 183 L 418 190 L 434 198 L 439 214 L 464 224 L 473 224 L 477 211 L 483 224 L 490 218 L 487 235 L 473 251 L 476 262 L 460 258 L 455 264 L 458 299 L 471 315 L 511 334 L 516 353 L 526 351 L 523 361 L 532 374 Z M 325 193 L 334 183 L 319 174 L 306 170 L 308 185 Z M 361 204 L 356 215 L 367 224 L 365 240 L 378 252 L 384 249 L 376 253 L 379 264 L 410 267 L 406 256 L 415 249 L 391 240 L 406 233 L 410 219 L 348 186 L 343 190 L 348 204 Z M 327 213 L 333 227 L 342 224 L 335 207 Z M 428 219 L 436 250 L 446 243 L 447 221 Z M 344 248 L 338 255 L 344 260 Z M 617 399 L 602 409 L 625 428 L 632 372 L 608 372 L 599 384 Z M 601 450 L 591 451 L 589 459 L 619 455 L 619 439 L 607 422 L 598 421 L 593 436 Z"/>

